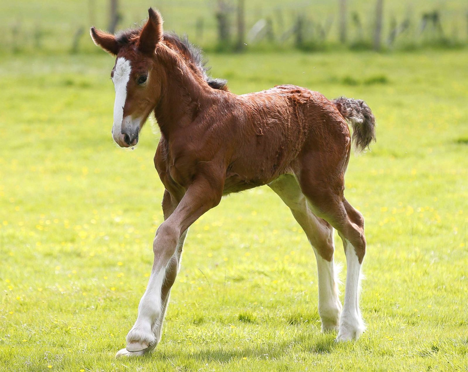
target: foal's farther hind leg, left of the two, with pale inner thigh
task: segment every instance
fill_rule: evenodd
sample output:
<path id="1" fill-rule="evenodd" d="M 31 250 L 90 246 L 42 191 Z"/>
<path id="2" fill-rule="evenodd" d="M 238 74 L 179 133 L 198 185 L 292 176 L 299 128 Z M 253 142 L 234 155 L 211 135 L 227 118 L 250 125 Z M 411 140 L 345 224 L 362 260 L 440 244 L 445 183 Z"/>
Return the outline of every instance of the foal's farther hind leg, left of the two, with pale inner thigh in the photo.
<path id="1" fill-rule="evenodd" d="M 319 315 L 322 331 L 338 329 L 341 302 L 338 298 L 336 268 L 333 261 L 333 228 L 328 222 L 315 216 L 307 205 L 307 200 L 292 175 L 284 175 L 269 185 L 291 209 L 292 215 L 300 224 L 314 248 L 317 259 L 319 283 Z"/>

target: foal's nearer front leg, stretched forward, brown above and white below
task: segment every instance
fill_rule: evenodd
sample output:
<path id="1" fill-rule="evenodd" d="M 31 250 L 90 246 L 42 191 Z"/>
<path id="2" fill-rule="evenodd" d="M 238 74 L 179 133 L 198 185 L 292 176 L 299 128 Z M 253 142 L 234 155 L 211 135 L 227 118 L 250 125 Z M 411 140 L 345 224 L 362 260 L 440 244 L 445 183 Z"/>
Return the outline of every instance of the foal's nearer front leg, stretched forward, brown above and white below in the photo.
<path id="1" fill-rule="evenodd" d="M 154 263 L 148 286 L 140 300 L 137 321 L 127 335 L 127 347 L 119 351 L 117 357 L 143 355 L 154 349 L 159 341 L 168 291 L 177 272 L 180 258 L 177 245 L 189 226 L 216 206 L 220 199 L 221 192 L 213 190 L 205 179 L 199 179 L 190 185 L 172 215 L 156 231 L 153 243 Z M 166 277 L 172 280 L 168 283 Z M 163 300 L 162 297 L 166 299 Z"/>

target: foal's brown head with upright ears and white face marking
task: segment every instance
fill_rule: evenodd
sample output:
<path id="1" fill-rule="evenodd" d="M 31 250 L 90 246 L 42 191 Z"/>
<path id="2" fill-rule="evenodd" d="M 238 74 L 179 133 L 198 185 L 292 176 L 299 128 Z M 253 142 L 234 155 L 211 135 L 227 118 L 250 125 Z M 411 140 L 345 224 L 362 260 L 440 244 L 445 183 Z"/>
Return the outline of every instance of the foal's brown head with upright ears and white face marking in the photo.
<path id="1" fill-rule="evenodd" d="M 116 63 L 110 77 L 114 83 L 114 125 L 112 136 L 121 147 L 138 143 L 139 131 L 161 95 L 161 64 L 155 49 L 163 39 L 162 17 L 152 8 L 142 29 L 114 36 L 94 27 L 94 43 L 113 56 Z"/>

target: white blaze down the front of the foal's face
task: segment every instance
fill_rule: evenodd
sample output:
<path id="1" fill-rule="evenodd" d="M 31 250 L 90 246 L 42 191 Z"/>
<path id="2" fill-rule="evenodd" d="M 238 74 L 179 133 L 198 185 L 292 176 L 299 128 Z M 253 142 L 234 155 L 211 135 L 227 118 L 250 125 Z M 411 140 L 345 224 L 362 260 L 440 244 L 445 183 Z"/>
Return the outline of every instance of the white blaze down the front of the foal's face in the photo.
<path id="1" fill-rule="evenodd" d="M 122 120 L 124 117 L 125 100 L 127 99 L 127 83 L 130 79 L 130 72 L 132 66 L 130 61 L 124 57 L 117 58 L 116 67 L 114 69 L 114 76 L 112 81 L 116 90 L 116 100 L 114 103 L 114 125 L 112 127 L 112 134 L 115 137 L 121 134 Z"/>

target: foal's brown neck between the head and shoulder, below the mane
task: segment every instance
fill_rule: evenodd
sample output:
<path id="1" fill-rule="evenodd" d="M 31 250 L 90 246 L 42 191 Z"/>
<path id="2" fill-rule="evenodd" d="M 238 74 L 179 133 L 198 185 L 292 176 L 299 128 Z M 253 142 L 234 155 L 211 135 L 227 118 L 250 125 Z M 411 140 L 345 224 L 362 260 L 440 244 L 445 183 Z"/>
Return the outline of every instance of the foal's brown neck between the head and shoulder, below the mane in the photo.
<path id="1" fill-rule="evenodd" d="M 175 63 L 165 67 L 161 99 L 154 109 L 161 133 L 166 137 L 196 121 L 213 96 L 212 88 L 188 65 L 177 59 L 171 62 Z"/>

